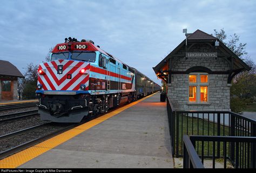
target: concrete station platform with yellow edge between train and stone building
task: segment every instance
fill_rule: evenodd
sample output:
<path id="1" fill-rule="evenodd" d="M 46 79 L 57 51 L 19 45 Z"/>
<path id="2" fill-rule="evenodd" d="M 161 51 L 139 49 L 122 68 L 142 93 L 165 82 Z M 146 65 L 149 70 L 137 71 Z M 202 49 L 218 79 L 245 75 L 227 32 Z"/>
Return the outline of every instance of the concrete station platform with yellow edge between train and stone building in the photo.
<path id="1" fill-rule="evenodd" d="M 166 103 L 154 93 L 0 160 L 0 168 L 173 168 Z"/>

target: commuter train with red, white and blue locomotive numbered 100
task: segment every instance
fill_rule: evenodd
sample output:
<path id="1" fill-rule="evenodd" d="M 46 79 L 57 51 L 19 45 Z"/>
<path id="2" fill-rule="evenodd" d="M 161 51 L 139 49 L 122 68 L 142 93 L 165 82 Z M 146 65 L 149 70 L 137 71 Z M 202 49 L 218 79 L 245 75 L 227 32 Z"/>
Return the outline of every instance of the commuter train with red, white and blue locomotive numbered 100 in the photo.
<path id="1" fill-rule="evenodd" d="M 150 78 L 91 40 L 66 38 L 52 49 L 50 61 L 38 67 L 42 120 L 80 122 L 159 90 Z"/>

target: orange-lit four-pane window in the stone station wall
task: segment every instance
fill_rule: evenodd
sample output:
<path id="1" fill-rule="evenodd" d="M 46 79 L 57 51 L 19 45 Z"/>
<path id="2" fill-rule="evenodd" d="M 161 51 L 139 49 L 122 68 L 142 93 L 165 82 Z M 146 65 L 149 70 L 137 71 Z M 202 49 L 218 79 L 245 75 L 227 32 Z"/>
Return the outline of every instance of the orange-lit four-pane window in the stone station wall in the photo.
<path id="1" fill-rule="evenodd" d="M 188 75 L 188 102 L 208 103 L 208 74 Z"/>

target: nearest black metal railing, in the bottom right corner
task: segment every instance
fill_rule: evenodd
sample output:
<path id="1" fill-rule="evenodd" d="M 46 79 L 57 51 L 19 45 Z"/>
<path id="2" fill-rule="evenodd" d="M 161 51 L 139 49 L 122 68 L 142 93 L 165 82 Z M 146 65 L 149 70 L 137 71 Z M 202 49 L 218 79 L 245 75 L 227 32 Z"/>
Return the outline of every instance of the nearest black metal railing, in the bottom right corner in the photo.
<path id="1" fill-rule="evenodd" d="M 184 160 L 192 158 L 193 162 L 198 162 L 196 156 L 188 156 L 185 151 L 191 150 L 191 146 L 185 145 L 185 142 L 188 143 L 188 138 L 190 138 L 195 150 L 198 146 L 200 150 L 196 149 L 196 155 L 198 158 L 201 158 L 201 163 L 204 164 L 204 161 L 208 158 L 212 160 L 212 168 L 215 168 L 215 162 L 218 158 L 218 162 L 223 165 L 223 168 L 255 168 L 256 165 L 256 138 L 255 137 L 245 137 L 245 136 L 202 136 L 202 135 L 193 135 L 188 137 L 187 135 L 183 136 L 184 141 Z M 206 143 L 210 142 L 212 150 L 210 153 L 205 151 Z M 223 145 L 223 152 L 220 153 L 220 157 L 217 156 L 217 143 L 220 142 L 221 146 Z M 234 148 L 231 147 L 234 145 Z M 188 148 L 190 147 L 190 148 Z M 232 151 L 234 155 L 232 158 Z M 193 153 L 194 154 L 194 153 Z M 221 158 L 221 159 L 219 159 Z M 184 162 L 184 168 L 189 168 L 190 165 L 187 165 L 187 162 Z"/>

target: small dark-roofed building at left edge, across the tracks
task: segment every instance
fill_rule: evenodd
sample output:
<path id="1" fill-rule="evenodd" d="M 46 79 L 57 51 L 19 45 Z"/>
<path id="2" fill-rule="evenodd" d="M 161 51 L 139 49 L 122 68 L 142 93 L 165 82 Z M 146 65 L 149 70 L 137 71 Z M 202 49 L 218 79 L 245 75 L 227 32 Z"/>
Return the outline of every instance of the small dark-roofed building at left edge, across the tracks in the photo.
<path id="1" fill-rule="evenodd" d="M 0 101 L 18 98 L 18 77 L 24 77 L 12 63 L 0 60 Z"/>

